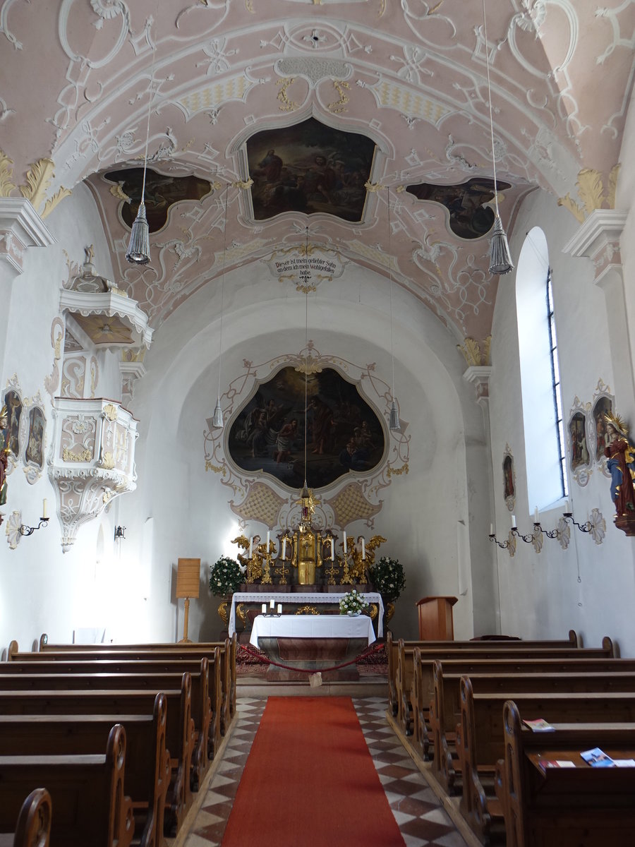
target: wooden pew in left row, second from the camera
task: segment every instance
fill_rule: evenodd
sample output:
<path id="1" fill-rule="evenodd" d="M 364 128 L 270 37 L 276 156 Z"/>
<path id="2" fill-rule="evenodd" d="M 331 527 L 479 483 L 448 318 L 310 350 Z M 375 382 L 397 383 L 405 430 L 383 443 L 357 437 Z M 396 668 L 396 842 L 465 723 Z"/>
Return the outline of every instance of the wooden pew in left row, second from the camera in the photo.
<path id="1" fill-rule="evenodd" d="M 0 830 L 14 826 L 25 795 L 44 783 L 53 808 L 51 847 L 129 847 L 135 820 L 124 794 L 124 759 L 120 724 L 105 755 L 0 756 Z"/>

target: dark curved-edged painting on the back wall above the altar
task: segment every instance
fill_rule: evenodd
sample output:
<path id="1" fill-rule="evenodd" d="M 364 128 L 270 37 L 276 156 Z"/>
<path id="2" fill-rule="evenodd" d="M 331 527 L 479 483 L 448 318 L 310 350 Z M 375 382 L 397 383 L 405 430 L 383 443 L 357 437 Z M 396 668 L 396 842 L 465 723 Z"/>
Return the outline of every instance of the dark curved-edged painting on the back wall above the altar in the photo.
<path id="1" fill-rule="evenodd" d="M 305 415 L 306 409 L 306 415 Z M 323 488 L 350 471 L 370 471 L 384 456 L 384 429 L 373 409 L 333 368 L 305 376 L 282 368 L 258 385 L 229 428 L 229 456 L 250 473 L 270 473 L 290 488 Z"/>

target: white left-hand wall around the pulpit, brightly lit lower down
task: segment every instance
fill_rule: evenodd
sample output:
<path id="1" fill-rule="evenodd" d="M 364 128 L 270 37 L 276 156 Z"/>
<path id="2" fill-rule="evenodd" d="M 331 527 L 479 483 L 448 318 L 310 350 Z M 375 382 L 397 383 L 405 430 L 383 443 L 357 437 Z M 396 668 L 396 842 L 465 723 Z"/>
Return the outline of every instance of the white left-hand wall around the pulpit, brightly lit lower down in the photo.
<path id="1" fill-rule="evenodd" d="M 138 620 L 127 606 L 129 596 L 125 584 L 126 564 L 113 543 L 114 524 L 110 514 L 102 521 L 92 521 L 80 528 L 75 545 L 63 553 L 60 545 L 61 525 L 56 514 L 55 495 L 48 481 L 46 459 L 52 440 L 51 395 L 45 379 L 51 378 L 54 349 L 51 341 L 53 318 L 58 316 L 59 291 L 69 275 L 66 256 L 76 263 L 84 261 L 84 247 L 95 248 L 97 272 L 113 279 L 108 246 L 102 235 L 101 222 L 89 191 L 75 186 L 72 197 L 61 202 L 47 218 L 56 243 L 49 247 L 30 248 L 25 257 L 25 272 L 12 283 L 7 346 L 0 365 L 0 382 L 17 375 L 23 398 L 32 400 L 39 392 L 47 418 L 45 467 L 41 478 L 29 484 L 19 462 L 8 477 L 7 504 L 2 512 L 5 521 L 14 510 L 22 514 L 27 525 L 36 526 L 41 515 L 42 499 L 47 498 L 48 526 L 19 540 L 10 550 L 4 534 L 0 534 L 0 654 L 12 639 L 20 649 L 29 649 L 47 632 L 53 640 L 69 641 L 76 628 L 91 625 L 118 625 L 119 619 Z M 119 399 L 121 380 L 118 356 L 99 355 L 100 378 L 97 396 Z M 61 361 L 58 363 L 61 368 Z M 59 374 L 58 374 L 59 378 Z M 52 394 L 58 394 L 59 382 Z M 112 514 L 113 507 L 110 507 Z M 97 551 L 97 535 L 103 523 L 101 549 Z"/>

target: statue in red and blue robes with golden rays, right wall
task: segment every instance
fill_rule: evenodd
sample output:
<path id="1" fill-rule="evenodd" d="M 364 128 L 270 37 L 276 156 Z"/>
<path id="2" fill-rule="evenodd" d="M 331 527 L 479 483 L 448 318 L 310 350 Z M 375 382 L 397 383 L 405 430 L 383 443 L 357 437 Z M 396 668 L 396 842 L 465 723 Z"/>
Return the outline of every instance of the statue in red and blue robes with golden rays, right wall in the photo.
<path id="1" fill-rule="evenodd" d="M 606 467 L 610 471 L 610 496 L 616 506 L 615 524 L 627 535 L 635 534 L 635 448 L 619 415 L 605 414 Z"/>

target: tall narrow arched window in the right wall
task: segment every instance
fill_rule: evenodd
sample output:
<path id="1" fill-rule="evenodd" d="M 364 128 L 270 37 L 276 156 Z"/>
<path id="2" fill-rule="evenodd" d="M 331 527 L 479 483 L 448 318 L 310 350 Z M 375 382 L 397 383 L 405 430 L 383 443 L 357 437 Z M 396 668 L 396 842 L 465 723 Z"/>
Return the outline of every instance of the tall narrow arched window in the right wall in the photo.
<path id="1" fill-rule="evenodd" d="M 549 250 L 543 230 L 527 233 L 516 271 L 522 419 L 530 509 L 567 495 L 565 435 Z"/>

